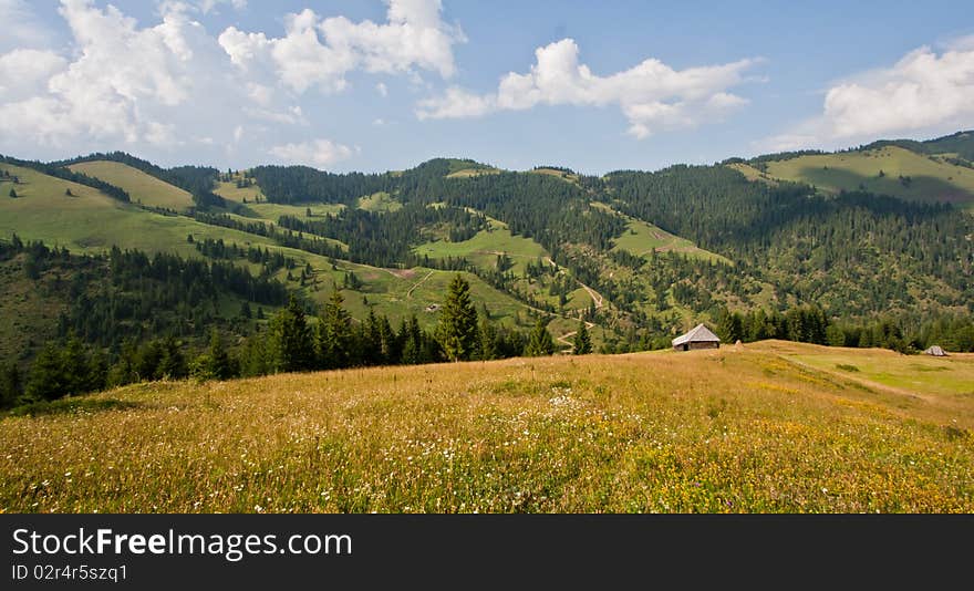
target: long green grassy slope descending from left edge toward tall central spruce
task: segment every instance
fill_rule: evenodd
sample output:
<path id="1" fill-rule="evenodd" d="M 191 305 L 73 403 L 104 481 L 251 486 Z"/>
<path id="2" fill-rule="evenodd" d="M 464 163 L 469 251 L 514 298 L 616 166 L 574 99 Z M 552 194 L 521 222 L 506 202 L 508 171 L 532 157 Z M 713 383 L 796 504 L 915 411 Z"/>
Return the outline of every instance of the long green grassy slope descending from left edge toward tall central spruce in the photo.
<path id="1" fill-rule="evenodd" d="M 204 238 L 222 239 L 226 243 L 237 243 L 240 247 L 260 246 L 271 251 L 279 250 L 284 256 L 291 257 L 303 267 L 310 263 L 317 279 L 317 289 L 308 286 L 304 292 L 317 302 L 324 302 L 331 293 L 332 284 L 342 284 L 344 271 L 353 271 L 365 283 L 361 292 L 348 292 L 346 299 L 350 308 L 361 318 L 365 309 L 361 304 L 362 296 L 369 298 L 376 311 L 387 313 L 393 320 L 416 313 L 425 325 L 435 322 L 435 319 L 424 315 L 425 308 L 429 303 L 442 302 L 446 292 L 445 286 L 450 273 L 436 271 L 436 281 L 431 286 L 439 286 L 439 291 L 424 292 L 423 286 L 413 293 L 413 298 L 405 298 L 408 290 L 419 280 L 422 270 L 414 272 L 387 271 L 374 267 L 354 265 L 340 261 L 338 269 L 333 270 L 331 262 L 325 257 L 312 255 L 301 250 L 294 250 L 277 246 L 272 240 L 246 234 L 242 231 L 208 226 L 187 217 L 162 216 L 115 201 L 96 189 L 50 177 L 31 169 L 10 165 L 0 165 L 17 175 L 21 184 L 17 185 L 18 199 L 9 197 L 0 198 L 0 238 L 9 238 L 17 232 L 23 240 L 42 240 L 49 246 L 68 247 L 75 253 L 104 252 L 113 245 L 120 248 L 132 248 L 152 252 L 176 252 L 184 257 L 198 257 L 195 246 L 187 242 L 187 235 L 193 235 L 199 241 Z M 10 183 L 3 183 L 4 193 L 9 193 Z M 74 197 L 64 194 L 71 188 Z M 248 199 L 249 200 L 249 199 Z M 291 206 L 276 206 L 259 204 L 256 207 L 287 208 Z M 315 210 L 317 206 L 312 206 Z M 305 207 L 300 209 L 304 217 Z M 274 218 L 277 221 L 277 218 Z M 237 261 L 242 263 L 242 261 Z M 257 270 L 253 267 L 251 270 Z M 287 281 L 287 270 L 278 273 L 278 279 Z M 300 273 L 300 268 L 293 271 L 293 276 Z M 487 302 L 500 315 L 514 318 L 517 310 L 524 311 L 524 307 L 512 298 L 502 294 L 476 277 L 468 278 L 478 302 Z M 299 288 L 297 281 L 288 283 L 290 288 Z M 434 299 L 435 298 L 435 299 Z"/>

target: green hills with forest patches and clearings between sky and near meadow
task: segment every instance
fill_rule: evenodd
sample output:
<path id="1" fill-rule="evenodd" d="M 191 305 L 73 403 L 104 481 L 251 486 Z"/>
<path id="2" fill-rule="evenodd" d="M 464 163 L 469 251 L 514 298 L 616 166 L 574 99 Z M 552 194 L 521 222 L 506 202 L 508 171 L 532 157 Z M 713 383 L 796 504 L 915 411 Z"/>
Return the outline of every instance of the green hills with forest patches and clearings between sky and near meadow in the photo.
<path id="1" fill-rule="evenodd" d="M 22 280 L 23 262 L 43 259 L 62 262 L 40 280 L 70 286 L 50 313 L 24 317 L 30 326 L 13 322 L 23 305 L 4 307 L 0 325 L 17 331 L 0 341 L 25 351 L 24 363 L 42 344 L 18 341 L 32 332 L 70 332 L 112 355 L 132 330 L 203 346 L 210 325 L 227 338 L 261 330 L 266 320 L 240 318 L 261 305 L 276 313 L 284 294 L 313 314 L 335 291 L 358 322 L 415 315 L 433 330 L 443 290 L 462 271 L 483 318 L 516 333 L 540 320 L 560 348 L 579 321 L 605 352 L 666 346 L 704 321 L 732 342 L 974 349 L 970 143 L 956 134 L 604 176 L 450 158 L 334 174 L 163 168 L 124 153 L 0 157 L 0 240 L 18 252 L 0 266 L 3 284 L 35 284 Z M 929 175 L 902 174 L 918 166 Z M 850 178 L 866 180 L 842 184 Z M 49 253 L 23 246 L 37 242 Z M 113 274 L 114 288 L 97 296 L 105 261 L 120 252 L 135 257 L 123 267 L 151 274 Z M 180 283 L 186 274 L 196 288 Z M 135 300 L 162 302 L 165 313 Z"/>

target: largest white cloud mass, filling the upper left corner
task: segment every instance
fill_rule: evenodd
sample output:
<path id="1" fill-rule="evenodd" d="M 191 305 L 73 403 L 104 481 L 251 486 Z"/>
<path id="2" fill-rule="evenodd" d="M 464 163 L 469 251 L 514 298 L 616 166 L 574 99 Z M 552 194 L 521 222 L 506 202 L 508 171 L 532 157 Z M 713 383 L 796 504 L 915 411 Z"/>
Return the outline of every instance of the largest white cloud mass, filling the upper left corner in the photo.
<path id="1" fill-rule="evenodd" d="M 197 9 L 185 2 L 158 7 L 159 21 L 141 27 L 111 4 L 101 9 L 90 0 L 61 0 L 60 14 L 71 32 L 63 53 L 0 53 L 0 153 L 157 155 L 190 144 L 218 151 L 238 143 L 235 129 L 247 123 L 278 124 L 278 143 L 281 125 L 308 124 L 300 105 L 274 81 L 248 77 L 232 66 L 217 39 L 194 20 Z M 259 142 L 266 133 L 248 139 Z M 249 149 L 267 147 L 250 144 Z"/>

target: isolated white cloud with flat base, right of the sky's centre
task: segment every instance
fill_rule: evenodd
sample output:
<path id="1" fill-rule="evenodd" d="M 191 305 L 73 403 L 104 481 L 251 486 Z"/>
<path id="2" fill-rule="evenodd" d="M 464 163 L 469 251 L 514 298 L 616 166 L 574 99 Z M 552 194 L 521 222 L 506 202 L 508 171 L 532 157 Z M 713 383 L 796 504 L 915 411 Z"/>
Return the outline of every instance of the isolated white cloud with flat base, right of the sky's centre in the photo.
<path id="1" fill-rule="evenodd" d="M 530 72 L 511 72 L 495 94 L 477 95 L 450 87 L 441 97 L 421 101 L 416 114 L 425 118 L 464 118 L 495 111 L 521 111 L 538 105 L 615 105 L 629 120 L 629 133 L 646 137 L 660 129 L 692 127 L 721 118 L 747 101 L 727 89 L 746 81 L 755 60 L 673 70 L 654 59 L 609 76 L 593 74 L 579 63 L 579 48 L 563 39 L 535 51 Z"/>

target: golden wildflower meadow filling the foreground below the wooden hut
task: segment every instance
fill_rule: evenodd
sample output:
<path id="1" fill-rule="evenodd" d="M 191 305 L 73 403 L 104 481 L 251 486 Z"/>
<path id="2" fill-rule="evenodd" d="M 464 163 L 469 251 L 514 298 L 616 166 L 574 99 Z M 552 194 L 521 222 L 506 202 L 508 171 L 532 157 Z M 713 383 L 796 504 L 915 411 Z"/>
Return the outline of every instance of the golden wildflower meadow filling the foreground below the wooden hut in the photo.
<path id="1" fill-rule="evenodd" d="M 136 385 L 2 419 L 0 510 L 974 510 L 974 357 L 906 394 L 791 359 L 836 354 L 943 363 L 768 342 Z"/>

